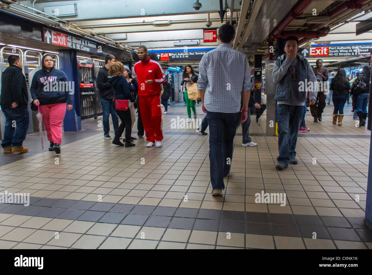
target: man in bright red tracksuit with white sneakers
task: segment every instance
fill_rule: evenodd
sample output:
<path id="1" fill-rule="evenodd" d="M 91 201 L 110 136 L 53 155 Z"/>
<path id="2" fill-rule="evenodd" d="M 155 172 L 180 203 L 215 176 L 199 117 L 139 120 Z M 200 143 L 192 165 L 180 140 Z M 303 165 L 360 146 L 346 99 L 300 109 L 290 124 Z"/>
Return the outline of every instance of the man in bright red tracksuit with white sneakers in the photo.
<path id="1" fill-rule="evenodd" d="M 145 128 L 146 147 L 161 147 L 163 131 L 161 123 L 160 84 L 166 82 L 159 63 L 148 57 L 145 46 L 138 47 L 140 61 L 134 65 L 138 80 L 138 103 L 140 104 L 142 123 Z"/>

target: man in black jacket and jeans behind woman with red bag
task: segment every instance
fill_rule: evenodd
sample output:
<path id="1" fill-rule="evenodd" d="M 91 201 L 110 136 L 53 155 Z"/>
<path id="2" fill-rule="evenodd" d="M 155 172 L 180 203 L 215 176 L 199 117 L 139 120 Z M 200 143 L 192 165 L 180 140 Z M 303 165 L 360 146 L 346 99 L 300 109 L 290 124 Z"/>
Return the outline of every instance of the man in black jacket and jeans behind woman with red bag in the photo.
<path id="1" fill-rule="evenodd" d="M 112 103 L 112 99 L 114 98 L 114 90 L 110 86 L 109 83 L 109 69 L 111 65 L 115 62 L 115 56 L 111 54 L 107 54 L 105 56 L 105 66 L 99 69 L 97 74 L 97 88 L 99 89 L 99 96 L 101 98 L 101 107 L 103 113 L 103 137 L 105 139 L 111 139 L 110 137 L 110 124 L 109 124 L 109 117 L 111 113 L 112 117 L 112 124 L 114 127 L 114 132 L 116 133 L 116 129 L 119 127 L 119 118 L 118 114 L 116 114 L 115 106 Z"/>

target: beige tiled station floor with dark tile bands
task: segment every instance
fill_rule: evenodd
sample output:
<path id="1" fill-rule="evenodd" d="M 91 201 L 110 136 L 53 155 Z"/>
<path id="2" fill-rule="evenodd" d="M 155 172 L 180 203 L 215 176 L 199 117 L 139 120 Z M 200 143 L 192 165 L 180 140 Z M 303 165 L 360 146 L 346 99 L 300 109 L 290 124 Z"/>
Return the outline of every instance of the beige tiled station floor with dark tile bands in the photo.
<path id="1" fill-rule="evenodd" d="M 320 123 L 308 113 L 299 163 L 284 171 L 274 166 L 277 137 L 263 134 L 265 116 L 260 124 L 253 116 L 257 146 L 241 146 L 238 128 L 221 197 L 211 196 L 208 136 L 171 129 L 172 118 L 186 118 L 183 104 L 163 115 L 162 148 L 144 139 L 119 148 L 93 119 L 64 133 L 61 155 L 42 152 L 38 133 L 29 135 L 29 153 L 0 155 L 0 193 L 31 200 L 0 203 L 0 248 L 372 249 L 363 221 L 370 132 L 355 127 L 351 106 L 343 126 L 331 123 L 332 110 Z M 261 191 L 285 193 L 286 205 L 255 203 Z"/>

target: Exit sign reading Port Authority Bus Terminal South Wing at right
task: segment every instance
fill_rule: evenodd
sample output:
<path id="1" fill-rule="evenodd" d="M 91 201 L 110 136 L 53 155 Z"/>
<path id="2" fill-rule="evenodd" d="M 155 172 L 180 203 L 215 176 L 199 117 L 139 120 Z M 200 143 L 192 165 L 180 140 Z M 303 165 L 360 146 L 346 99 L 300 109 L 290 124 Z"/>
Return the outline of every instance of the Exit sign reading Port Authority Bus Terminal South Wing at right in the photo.
<path id="1" fill-rule="evenodd" d="M 311 47 L 300 51 L 304 57 L 371 56 L 371 45 L 334 45 Z"/>

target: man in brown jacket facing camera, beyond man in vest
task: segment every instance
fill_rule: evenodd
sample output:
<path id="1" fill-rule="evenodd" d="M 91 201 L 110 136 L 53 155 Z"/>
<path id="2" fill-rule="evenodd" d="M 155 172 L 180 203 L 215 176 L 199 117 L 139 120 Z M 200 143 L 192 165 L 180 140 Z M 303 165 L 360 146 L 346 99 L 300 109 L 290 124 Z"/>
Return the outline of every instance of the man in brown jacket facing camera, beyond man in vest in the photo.
<path id="1" fill-rule="evenodd" d="M 328 70 L 326 67 L 323 66 L 323 60 L 318 59 L 316 61 L 317 66 L 315 68 L 312 68 L 312 71 L 314 72 L 315 78 L 321 79 L 323 83 L 325 83 L 328 80 Z M 318 76 L 318 77 L 317 77 Z M 324 91 L 318 91 L 317 98 L 315 99 L 315 104 L 310 106 L 310 112 L 311 115 L 314 117 L 314 122 L 322 121 L 322 113 L 325 107 L 325 85 L 321 86 L 323 87 Z"/>

